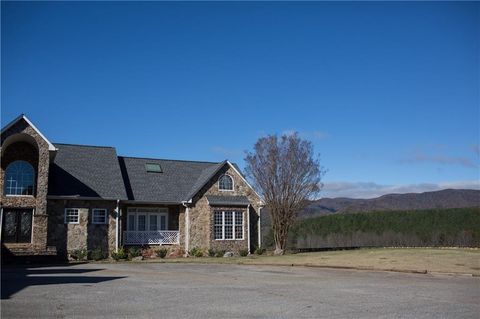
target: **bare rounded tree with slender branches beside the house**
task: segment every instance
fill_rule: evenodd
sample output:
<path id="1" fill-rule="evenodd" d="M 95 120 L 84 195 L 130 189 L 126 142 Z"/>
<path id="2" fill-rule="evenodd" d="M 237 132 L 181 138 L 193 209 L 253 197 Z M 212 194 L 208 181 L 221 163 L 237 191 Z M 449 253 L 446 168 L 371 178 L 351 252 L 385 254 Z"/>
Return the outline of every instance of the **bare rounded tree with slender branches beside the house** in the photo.
<path id="1" fill-rule="evenodd" d="M 320 191 L 324 174 L 310 141 L 298 133 L 260 138 L 247 152 L 247 176 L 262 193 L 272 220 L 275 254 L 285 253 L 298 212 Z"/>

